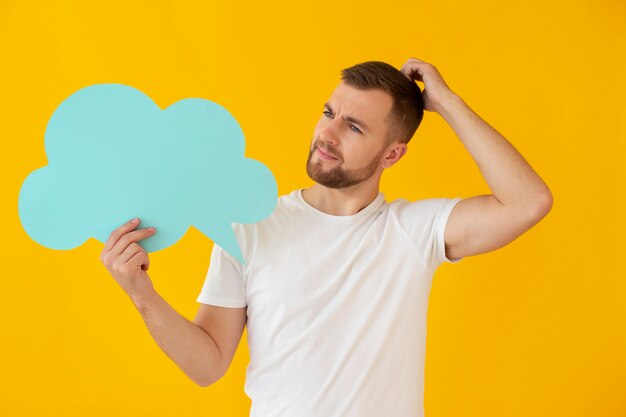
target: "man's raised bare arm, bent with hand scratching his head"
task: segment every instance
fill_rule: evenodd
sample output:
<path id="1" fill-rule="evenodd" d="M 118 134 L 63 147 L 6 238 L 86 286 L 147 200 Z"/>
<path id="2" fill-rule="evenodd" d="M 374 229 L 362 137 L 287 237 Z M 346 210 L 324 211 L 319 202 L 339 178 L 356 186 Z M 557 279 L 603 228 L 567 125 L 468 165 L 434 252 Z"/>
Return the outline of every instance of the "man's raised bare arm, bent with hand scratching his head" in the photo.
<path id="1" fill-rule="evenodd" d="M 513 145 L 478 116 L 431 64 L 411 58 L 401 71 L 424 83 L 424 109 L 440 114 L 478 165 L 493 194 L 459 201 L 445 230 L 446 256 L 498 249 L 537 224 L 552 208 L 552 193 Z"/>

